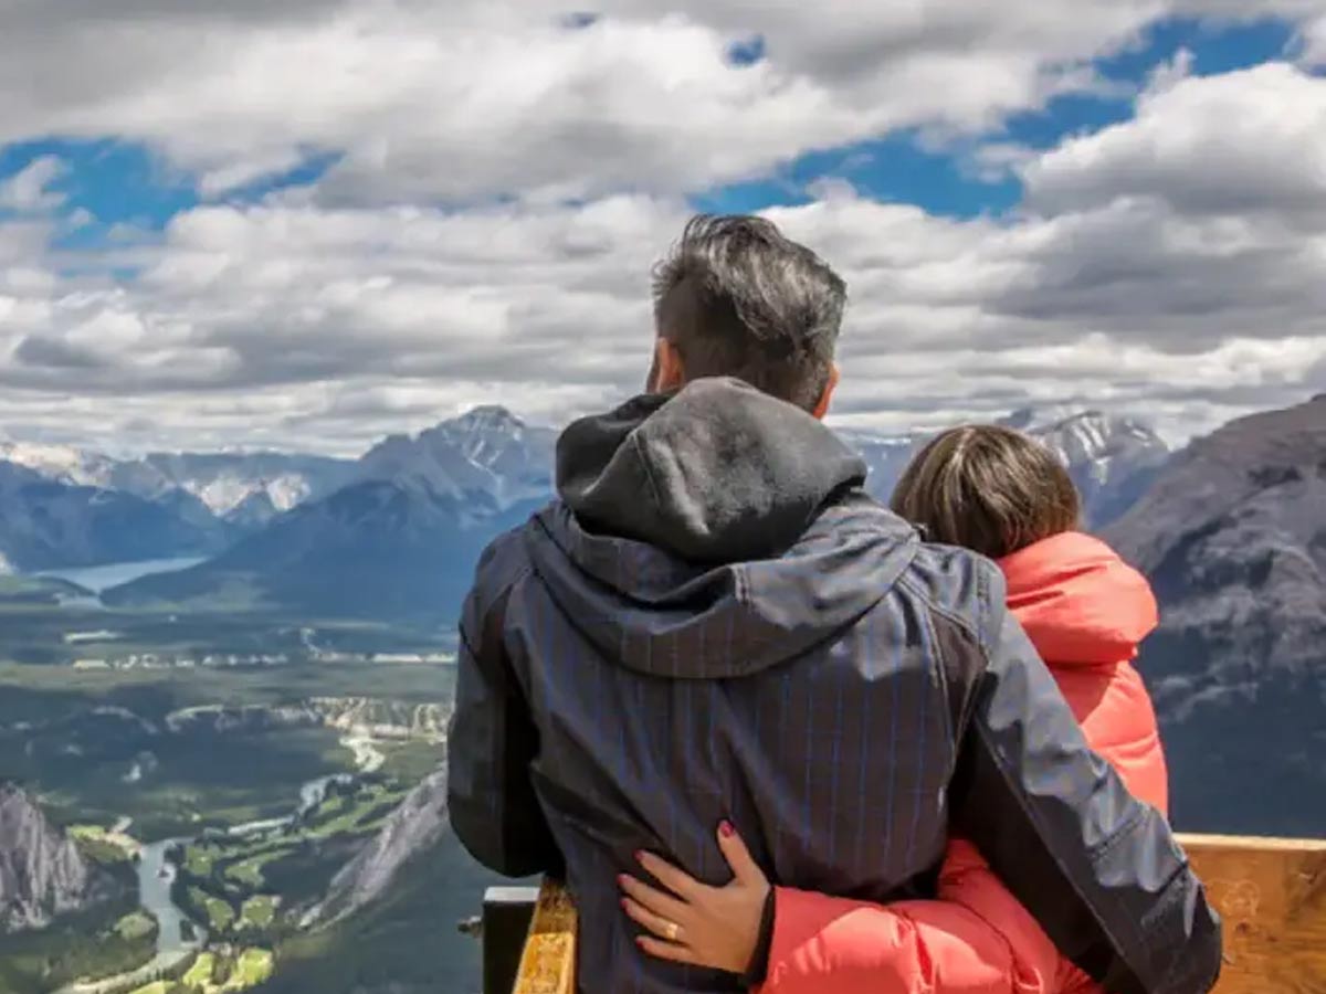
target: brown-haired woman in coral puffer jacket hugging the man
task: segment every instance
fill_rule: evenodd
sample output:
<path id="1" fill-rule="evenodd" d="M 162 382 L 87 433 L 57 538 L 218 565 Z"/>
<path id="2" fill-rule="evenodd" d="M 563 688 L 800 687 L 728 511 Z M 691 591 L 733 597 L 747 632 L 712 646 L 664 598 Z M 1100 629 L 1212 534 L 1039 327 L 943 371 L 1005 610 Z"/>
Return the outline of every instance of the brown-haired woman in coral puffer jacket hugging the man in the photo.
<path id="1" fill-rule="evenodd" d="M 1156 627 L 1155 598 L 1109 546 L 1077 530 L 1079 498 L 1062 464 L 1020 432 L 955 428 L 912 460 L 892 508 L 931 541 L 998 562 L 1009 610 L 1087 742 L 1164 811 L 1155 710 L 1131 663 Z M 1095 990 L 961 839 L 945 855 L 939 900 L 888 905 L 770 889 L 725 822 L 719 847 L 733 871 L 727 887 L 705 887 L 648 854 L 640 863 L 666 891 L 622 877 L 623 909 L 648 933 L 638 941 L 651 956 L 744 974 L 766 994 Z"/>

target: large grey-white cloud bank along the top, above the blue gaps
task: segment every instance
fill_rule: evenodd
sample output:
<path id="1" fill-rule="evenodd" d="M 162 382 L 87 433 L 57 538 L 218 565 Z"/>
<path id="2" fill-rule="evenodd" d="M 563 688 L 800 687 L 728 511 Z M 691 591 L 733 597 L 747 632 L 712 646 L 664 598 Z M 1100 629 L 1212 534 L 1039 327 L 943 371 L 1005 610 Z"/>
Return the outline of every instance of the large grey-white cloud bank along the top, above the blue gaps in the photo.
<path id="1" fill-rule="evenodd" d="M 212 197 L 320 155 L 339 205 L 668 195 L 899 127 L 987 130 L 1098 89 L 1090 60 L 1174 11 L 1307 9 L 1211 3 L 610 0 L 572 27 L 550 0 L 11 0 L 0 143 L 145 142 Z M 761 57 L 732 58 L 752 37 Z"/>

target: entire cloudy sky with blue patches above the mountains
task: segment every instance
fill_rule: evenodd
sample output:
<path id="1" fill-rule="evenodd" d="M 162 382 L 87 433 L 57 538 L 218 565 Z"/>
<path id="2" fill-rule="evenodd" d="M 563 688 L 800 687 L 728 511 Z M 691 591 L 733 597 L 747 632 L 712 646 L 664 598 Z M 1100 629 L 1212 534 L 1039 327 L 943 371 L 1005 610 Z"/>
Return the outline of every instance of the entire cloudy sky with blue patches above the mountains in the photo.
<path id="1" fill-rule="evenodd" d="M 0 0 L 0 433 L 556 423 L 695 209 L 847 278 L 842 424 L 1294 403 L 1326 0 Z"/>

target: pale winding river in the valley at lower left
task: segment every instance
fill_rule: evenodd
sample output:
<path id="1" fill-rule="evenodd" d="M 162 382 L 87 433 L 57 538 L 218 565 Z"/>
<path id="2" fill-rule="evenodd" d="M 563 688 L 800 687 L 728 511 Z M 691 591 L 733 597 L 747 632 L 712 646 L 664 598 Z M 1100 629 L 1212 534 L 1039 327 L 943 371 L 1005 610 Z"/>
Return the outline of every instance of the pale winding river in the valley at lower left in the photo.
<path id="1" fill-rule="evenodd" d="M 382 751 L 373 741 L 363 736 L 347 736 L 341 740 L 341 745 L 354 753 L 354 763 L 359 773 L 377 770 L 385 759 Z M 243 838 L 256 832 L 284 828 L 321 804 L 326 799 L 328 787 L 333 783 L 350 783 L 353 781 L 354 774 L 350 773 L 333 773 L 308 781 L 300 785 L 300 804 L 293 814 L 285 818 L 271 818 L 264 822 L 237 824 L 225 834 L 232 838 Z M 129 819 L 121 819 L 114 832 L 123 835 L 130 824 Z M 141 983 L 146 985 L 156 973 L 178 966 L 180 961 L 192 956 L 203 946 L 207 941 L 207 933 L 196 922 L 191 921 L 184 911 L 171 900 L 170 888 L 175 881 L 176 871 L 174 864 L 166 859 L 171 848 L 175 846 L 187 846 L 191 842 L 194 842 L 191 838 L 163 839 L 162 842 L 147 843 L 139 850 L 138 903 L 156 918 L 159 926 L 156 956 L 145 966 L 139 966 L 130 973 L 107 977 L 101 981 L 72 983 L 56 991 L 56 994 L 106 994 L 110 990 L 119 990 L 122 987 L 133 989 L 134 985 Z M 186 921 L 190 921 L 194 926 L 195 937 L 192 940 L 184 938 Z"/>

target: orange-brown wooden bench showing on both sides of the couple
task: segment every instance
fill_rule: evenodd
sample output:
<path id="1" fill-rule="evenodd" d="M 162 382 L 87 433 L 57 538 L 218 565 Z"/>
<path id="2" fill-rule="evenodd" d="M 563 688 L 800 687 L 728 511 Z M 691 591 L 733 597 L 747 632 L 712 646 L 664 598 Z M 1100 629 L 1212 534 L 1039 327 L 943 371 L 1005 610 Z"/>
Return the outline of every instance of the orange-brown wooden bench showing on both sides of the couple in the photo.
<path id="1" fill-rule="evenodd" d="M 1224 918 L 1225 966 L 1217 994 L 1326 991 L 1326 839 L 1181 835 L 1179 840 Z M 521 892 L 521 921 L 529 925 L 518 961 L 512 949 L 509 966 L 489 969 L 500 952 L 499 936 L 487 925 L 495 913 L 492 893 L 484 905 L 484 994 L 574 994 L 575 908 L 566 892 L 552 883 Z M 511 893 L 504 893 L 511 904 Z"/>

